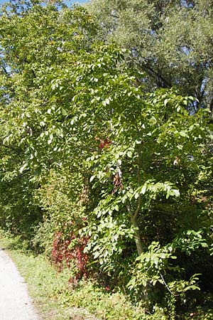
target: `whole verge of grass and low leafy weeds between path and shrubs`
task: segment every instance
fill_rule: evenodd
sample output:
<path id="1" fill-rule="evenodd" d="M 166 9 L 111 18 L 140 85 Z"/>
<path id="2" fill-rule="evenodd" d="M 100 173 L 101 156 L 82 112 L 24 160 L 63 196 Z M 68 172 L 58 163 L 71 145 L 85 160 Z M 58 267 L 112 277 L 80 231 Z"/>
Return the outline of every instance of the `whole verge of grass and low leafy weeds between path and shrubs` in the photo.
<path id="1" fill-rule="evenodd" d="M 28 290 L 42 319 L 48 320 L 140 320 L 144 310 L 133 307 L 124 294 L 109 293 L 92 281 L 82 281 L 75 289 L 70 272 L 57 272 L 43 255 L 23 250 L 19 238 L 0 233 L 4 247 L 28 283 Z M 163 320 L 163 317 L 160 318 Z"/>

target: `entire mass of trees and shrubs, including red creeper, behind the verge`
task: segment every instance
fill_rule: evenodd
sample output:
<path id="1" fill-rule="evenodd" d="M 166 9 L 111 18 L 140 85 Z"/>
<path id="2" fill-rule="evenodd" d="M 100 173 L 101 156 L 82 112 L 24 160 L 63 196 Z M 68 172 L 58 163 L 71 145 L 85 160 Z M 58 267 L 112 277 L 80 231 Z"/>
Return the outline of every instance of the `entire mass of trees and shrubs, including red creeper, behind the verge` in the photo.
<path id="1" fill-rule="evenodd" d="M 211 4 L 1 9 L 1 228 L 148 319 L 212 319 Z"/>

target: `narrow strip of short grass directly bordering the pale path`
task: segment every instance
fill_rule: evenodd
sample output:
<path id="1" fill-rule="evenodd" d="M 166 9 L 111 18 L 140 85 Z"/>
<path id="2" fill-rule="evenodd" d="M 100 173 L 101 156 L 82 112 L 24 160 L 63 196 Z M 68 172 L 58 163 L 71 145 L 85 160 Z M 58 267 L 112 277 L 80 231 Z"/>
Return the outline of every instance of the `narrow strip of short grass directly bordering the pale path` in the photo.
<path id="1" fill-rule="evenodd" d="M 42 255 L 34 256 L 17 248 L 17 239 L 3 238 L 0 235 L 0 245 L 9 252 L 19 272 L 26 280 L 28 291 L 38 311 L 40 311 L 42 319 L 69 319 L 62 306 L 60 306 L 56 295 L 56 289 L 65 285 L 66 279 L 64 275 L 55 272 L 54 268 L 45 261 Z"/>

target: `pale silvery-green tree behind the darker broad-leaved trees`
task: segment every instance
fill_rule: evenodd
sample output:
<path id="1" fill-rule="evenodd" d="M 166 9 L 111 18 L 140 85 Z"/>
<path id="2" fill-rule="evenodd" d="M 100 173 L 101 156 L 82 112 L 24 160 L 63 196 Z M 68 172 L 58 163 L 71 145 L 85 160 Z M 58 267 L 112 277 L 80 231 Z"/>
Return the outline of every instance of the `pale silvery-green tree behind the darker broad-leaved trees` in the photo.
<path id="1" fill-rule="evenodd" d="M 92 0 L 104 40 L 131 50 L 146 90 L 177 87 L 212 110 L 212 1 Z"/>

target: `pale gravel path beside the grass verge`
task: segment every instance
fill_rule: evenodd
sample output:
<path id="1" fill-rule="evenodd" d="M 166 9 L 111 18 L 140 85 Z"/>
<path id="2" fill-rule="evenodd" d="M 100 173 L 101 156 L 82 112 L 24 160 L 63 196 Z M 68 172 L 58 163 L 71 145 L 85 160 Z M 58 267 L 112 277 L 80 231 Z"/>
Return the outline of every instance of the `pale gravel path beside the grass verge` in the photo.
<path id="1" fill-rule="evenodd" d="M 40 320 L 24 279 L 4 249 L 0 248 L 0 320 Z"/>

